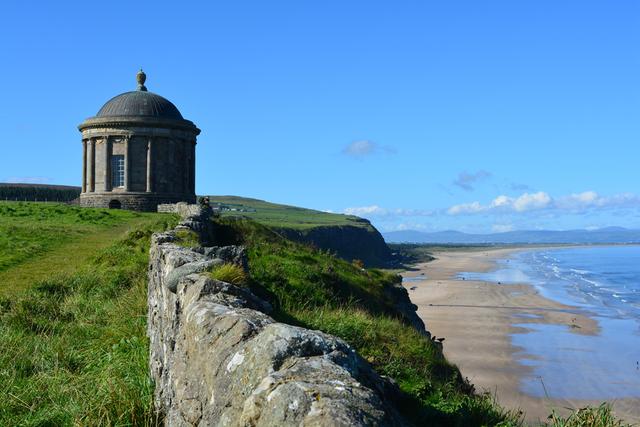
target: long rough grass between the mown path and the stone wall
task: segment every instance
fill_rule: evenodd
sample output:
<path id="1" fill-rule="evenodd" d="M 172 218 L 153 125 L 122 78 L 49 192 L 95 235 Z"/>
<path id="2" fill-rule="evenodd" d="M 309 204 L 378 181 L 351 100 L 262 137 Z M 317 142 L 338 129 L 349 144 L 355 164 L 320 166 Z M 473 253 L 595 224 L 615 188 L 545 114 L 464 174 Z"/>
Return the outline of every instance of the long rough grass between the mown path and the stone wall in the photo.
<path id="1" fill-rule="evenodd" d="M 0 425 L 160 421 L 148 375 L 146 272 L 151 233 L 173 225 L 157 215 L 76 272 L 0 299 Z"/>

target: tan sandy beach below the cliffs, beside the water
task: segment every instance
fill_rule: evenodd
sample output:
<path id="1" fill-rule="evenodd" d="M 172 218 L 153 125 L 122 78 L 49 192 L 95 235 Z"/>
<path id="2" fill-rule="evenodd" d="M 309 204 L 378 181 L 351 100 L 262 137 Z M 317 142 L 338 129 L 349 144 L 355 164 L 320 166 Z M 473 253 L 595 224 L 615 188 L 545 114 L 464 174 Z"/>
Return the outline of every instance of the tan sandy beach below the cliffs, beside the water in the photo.
<path id="1" fill-rule="evenodd" d="M 546 420 L 552 409 L 566 413 L 567 408 L 599 405 L 601 401 L 539 398 L 522 392 L 521 379 L 533 374 L 520 361 L 532 356 L 513 346 L 510 337 L 526 332 L 523 324 L 534 323 L 565 325 L 571 333 L 595 335 L 599 332 L 596 320 L 576 307 L 544 298 L 525 283 L 497 285 L 458 278 L 461 272 L 491 271 L 496 260 L 517 250 L 438 252 L 436 260 L 404 273 L 418 315 L 433 335 L 445 338 L 445 355 L 477 390 L 489 391 L 507 408 L 523 410 L 528 422 Z M 584 375 L 597 379 L 603 374 L 590 371 Z M 544 379 L 539 380 L 543 386 Z M 617 416 L 640 422 L 640 399 L 610 403 Z"/>

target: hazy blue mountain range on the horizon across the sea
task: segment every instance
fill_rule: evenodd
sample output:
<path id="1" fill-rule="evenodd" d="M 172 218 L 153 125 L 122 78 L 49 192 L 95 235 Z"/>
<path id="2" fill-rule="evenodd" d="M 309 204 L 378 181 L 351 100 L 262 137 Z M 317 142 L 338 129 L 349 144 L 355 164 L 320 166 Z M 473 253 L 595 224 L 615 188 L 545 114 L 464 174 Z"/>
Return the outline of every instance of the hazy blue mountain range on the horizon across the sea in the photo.
<path id="1" fill-rule="evenodd" d="M 405 230 L 382 233 L 387 243 L 433 244 L 547 244 L 547 243 L 640 243 L 640 230 L 607 227 L 597 230 L 522 230 L 492 234 L 469 234 L 460 231 L 425 233 Z"/>

